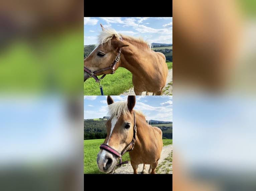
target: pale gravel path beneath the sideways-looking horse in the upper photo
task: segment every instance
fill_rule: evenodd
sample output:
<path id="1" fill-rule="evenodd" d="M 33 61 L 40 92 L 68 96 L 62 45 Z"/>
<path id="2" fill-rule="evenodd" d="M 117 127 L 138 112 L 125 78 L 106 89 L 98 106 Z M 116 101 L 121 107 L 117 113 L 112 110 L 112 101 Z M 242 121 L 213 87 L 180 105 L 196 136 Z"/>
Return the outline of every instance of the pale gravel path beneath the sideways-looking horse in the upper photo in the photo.
<path id="1" fill-rule="evenodd" d="M 172 95 L 172 83 L 171 83 L 171 85 L 169 85 L 170 82 L 172 82 L 172 69 L 170 69 L 168 71 L 168 76 L 167 76 L 166 84 L 163 89 L 162 95 Z M 120 95 L 135 95 L 135 93 L 133 91 L 133 87 Z M 141 95 L 146 95 L 146 92 L 142 92 Z M 149 93 L 149 95 L 152 95 L 152 93 Z"/>

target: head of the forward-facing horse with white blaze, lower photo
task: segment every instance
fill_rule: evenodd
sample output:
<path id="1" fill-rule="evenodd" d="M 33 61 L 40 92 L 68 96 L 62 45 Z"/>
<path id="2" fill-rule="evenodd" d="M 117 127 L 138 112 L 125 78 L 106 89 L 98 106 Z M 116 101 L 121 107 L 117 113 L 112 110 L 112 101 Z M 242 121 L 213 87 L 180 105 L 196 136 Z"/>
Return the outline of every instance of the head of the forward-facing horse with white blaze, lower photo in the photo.
<path id="1" fill-rule="evenodd" d="M 108 96 L 107 102 L 110 116 L 106 122 L 107 137 L 100 146 L 101 150 L 97 155 L 97 164 L 100 171 L 111 173 L 115 170 L 115 166 L 122 155 L 133 149 L 136 139 L 133 107 L 136 100 L 135 96 L 128 96 L 127 102 L 114 102 L 112 97 Z"/>

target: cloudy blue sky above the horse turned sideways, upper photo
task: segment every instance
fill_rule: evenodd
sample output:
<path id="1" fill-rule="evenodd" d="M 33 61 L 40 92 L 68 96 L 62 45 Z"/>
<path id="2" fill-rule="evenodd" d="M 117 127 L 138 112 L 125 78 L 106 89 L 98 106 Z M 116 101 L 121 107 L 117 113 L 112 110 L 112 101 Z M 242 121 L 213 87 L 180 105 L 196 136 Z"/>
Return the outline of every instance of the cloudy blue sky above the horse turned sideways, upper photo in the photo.
<path id="1" fill-rule="evenodd" d="M 172 17 L 84 17 L 84 45 L 97 44 L 100 24 L 148 43 L 172 44 Z"/>

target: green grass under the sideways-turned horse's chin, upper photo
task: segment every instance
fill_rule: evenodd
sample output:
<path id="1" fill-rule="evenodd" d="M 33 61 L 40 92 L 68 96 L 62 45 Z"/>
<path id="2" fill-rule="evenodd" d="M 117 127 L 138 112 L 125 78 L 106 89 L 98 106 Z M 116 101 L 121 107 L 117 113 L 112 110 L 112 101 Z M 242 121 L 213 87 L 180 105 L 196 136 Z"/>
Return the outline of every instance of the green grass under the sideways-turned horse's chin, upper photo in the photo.
<path id="1" fill-rule="evenodd" d="M 172 62 L 166 64 L 168 69 L 172 68 Z M 119 67 L 115 74 L 106 75 L 101 81 L 101 85 L 104 95 L 120 95 L 133 87 L 132 73 Z M 101 95 L 99 83 L 96 83 L 94 78 L 90 78 L 84 83 L 84 95 Z"/>

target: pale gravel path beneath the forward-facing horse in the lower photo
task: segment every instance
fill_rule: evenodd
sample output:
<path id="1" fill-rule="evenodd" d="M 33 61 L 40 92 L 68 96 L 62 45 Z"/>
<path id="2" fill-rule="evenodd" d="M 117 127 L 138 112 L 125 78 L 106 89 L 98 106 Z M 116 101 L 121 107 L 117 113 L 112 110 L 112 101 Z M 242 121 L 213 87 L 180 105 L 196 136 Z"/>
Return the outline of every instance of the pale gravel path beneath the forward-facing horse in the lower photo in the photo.
<path id="1" fill-rule="evenodd" d="M 163 150 L 161 152 L 161 158 L 158 161 L 158 166 L 161 166 L 161 167 L 156 172 L 157 174 L 172 174 L 172 163 L 169 161 L 165 162 L 164 160 L 165 158 L 171 156 L 171 152 L 172 152 L 172 144 L 166 145 L 163 147 Z M 143 168 L 143 164 L 139 164 L 138 174 L 141 174 L 142 168 Z M 149 164 L 146 164 L 146 174 L 148 174 L 148 169 L 149 169 Z M 112 174 L 133 174 L 131 163 L 129 162 L 128 164 L 123 164 L 120 167 L 117 167 Z"/>

